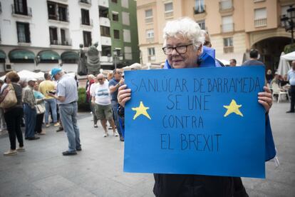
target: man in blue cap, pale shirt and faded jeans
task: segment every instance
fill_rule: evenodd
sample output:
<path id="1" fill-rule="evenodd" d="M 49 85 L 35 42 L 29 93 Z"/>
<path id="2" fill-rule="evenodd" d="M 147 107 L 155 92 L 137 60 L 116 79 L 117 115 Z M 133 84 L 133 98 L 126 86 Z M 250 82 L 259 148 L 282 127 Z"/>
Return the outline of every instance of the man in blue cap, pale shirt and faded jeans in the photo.
<path id="1" fill-rule="evenodd" d="M 78 91 L 76 80 L 64 74 L 61 69 L 52 69 L 51 79 L 58 81 L 58 84 L 56 94 L 48 93 L 48 96 L 56 98 L 61 122 L 68 136 L 68 151 L 64 151 L 63 156 L 73 156 L 77 154 L 76 151 L 82 151 L 77 124 Z"/>

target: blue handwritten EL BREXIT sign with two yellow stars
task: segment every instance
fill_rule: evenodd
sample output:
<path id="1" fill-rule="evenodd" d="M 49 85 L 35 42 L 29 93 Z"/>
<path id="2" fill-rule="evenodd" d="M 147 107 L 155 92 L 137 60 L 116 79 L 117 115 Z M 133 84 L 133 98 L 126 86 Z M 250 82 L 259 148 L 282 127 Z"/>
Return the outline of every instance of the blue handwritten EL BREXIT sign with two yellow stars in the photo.
<path id="1" fill-rule="evenodd" d="M 265 177 L 264 67 L 125 71 L 124 171 Z"/>

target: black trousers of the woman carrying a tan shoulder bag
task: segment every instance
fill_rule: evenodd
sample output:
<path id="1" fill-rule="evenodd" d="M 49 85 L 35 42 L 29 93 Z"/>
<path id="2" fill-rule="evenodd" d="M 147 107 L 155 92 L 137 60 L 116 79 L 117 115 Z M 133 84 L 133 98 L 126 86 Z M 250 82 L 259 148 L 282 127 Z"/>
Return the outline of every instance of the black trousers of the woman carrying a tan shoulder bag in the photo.
<path id="1" fill-rule="evenodd" d="M 21 133 L 21 117 L 23 116 L 23 108 L 11 108 L 4 113 L 7 130 L 9 131 L 10 149 L 16 149 L 16 138 L 19 146 L 24 146 L 23 133 Z"/>

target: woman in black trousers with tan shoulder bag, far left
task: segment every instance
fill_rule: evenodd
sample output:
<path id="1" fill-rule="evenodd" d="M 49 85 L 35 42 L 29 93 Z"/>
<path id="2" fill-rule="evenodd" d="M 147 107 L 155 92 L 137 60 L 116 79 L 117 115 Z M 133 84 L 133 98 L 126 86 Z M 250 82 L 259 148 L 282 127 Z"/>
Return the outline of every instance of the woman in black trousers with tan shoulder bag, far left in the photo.
<path id="1" fill-rule="evenodd" d="M 21 86 L 17 84 L 19 75 L 15 71 L 6 74 L 7 86 L 0 96 L 0 107 L 4 108 L 4 118 L 9 132 L 10 149 L 5 156 L 15 155 L 17 151 L 25 151 L 23 133 L 21 133 L 21 117 L 23 116 L 23 103 L 21 101 Z M 16 148 L 16 138 L 19 148 Z"/>

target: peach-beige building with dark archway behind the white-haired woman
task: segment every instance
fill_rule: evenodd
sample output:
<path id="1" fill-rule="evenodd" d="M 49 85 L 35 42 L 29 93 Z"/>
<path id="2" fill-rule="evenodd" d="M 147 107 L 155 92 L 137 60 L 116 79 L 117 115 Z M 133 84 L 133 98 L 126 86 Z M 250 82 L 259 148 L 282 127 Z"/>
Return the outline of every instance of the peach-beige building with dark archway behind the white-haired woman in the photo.
<path id="1" fill-rule="evenodd" d="M 171 19 L 188 16 L 209 32 L 218 59 L 242 64 L 249 49 L 258 49 L 268 69 L 275 70 L 291 34 L 280 16 L 292 0 L 138 0 L 138 37 L 143 64 L 160 64 L 162 29 Z"/>

